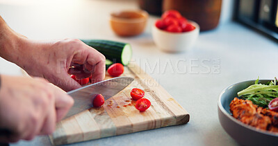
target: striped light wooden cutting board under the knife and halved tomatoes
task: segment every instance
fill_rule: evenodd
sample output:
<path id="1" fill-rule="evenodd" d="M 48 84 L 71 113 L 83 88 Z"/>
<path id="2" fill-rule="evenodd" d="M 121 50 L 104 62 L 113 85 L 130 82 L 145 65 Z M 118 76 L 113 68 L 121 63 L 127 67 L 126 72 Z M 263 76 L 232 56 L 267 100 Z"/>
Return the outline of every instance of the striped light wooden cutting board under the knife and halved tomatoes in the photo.
<path id="1" fill-rule="evenodd" d="M 91 108 L 59 122 L 49 138 L 53 145 L 130 134 L 136 131 L 182 125 L 189 121 L 188 112 L 152 77 L 131 62 L 122 76 L 135 80 L 123 91 L 106 100 L 103 107 Z M 111 78 L 106 75 L 106 79 Z M 133 88 L 143 89 L 152 102 L 147 111 L 138 111 L 131 100 Z M 131 101 L 129 101 L 131 100 Z M 113 101 L 112 106 L 108 106 Z M 128 105 L 131 103 L 130 105 Z"/>

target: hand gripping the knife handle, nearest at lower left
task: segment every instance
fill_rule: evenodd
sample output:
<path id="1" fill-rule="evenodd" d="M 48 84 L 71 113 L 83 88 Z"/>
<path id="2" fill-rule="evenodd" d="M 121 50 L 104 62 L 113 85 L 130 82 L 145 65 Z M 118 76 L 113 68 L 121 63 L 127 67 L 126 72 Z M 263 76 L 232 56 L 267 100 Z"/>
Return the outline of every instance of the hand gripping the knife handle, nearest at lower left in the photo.
<path id="1" fill-rule="evenodd" d="M 53 133 L 73 103 L 65 91 L 42 78 L 1 75 L 0 129 L 10 135 L 0 135 L 0 142 Z"/>

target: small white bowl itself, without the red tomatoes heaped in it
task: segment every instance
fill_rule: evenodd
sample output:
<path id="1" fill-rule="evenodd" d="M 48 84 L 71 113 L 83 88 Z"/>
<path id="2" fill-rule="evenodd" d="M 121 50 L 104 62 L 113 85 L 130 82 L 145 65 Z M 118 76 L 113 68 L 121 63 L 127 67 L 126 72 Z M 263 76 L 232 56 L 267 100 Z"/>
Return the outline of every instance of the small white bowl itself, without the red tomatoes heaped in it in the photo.
<path id="1" fill-rule="evenodd" d="M 162 51 L 173 53 L 190 50 L 199 36 L 199 25 L 194 21 L 188 22 L 196 27 L 195 30 L 184 33 L 169 33 L 165 30 L 160 30 L 153 25 L 152 36 L 156 46 Z"/>

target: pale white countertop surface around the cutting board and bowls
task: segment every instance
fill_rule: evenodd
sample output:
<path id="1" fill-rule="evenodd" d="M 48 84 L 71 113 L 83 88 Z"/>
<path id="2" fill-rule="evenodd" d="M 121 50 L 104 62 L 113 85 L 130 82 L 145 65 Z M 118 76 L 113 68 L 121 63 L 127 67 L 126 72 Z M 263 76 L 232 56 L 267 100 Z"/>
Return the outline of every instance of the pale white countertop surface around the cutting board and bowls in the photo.
<path id="1" fill-rule="evenodd" d="M 222 129 L 217 102 L 222 89 L 244 80 L 278 76 L 276 42 L 235 22 L 200 33 L 185 53 L 164 53 L 155 46 L 151 16 L 145 33 L 117 37 L 108 24 L 109 12 L 138 8 L 134 1 L 68 1 L 0 4 L 11 28 L 31 39 L 111 39 L 129 42 L 133 60 L 190 113 L 186 125 L 101 138 L 72 145 L 238 145 Z M 0 73 L 20 75 L 17 66 L 0 59 Z M 12 145 L 50 145 L 46 136 Z"/>

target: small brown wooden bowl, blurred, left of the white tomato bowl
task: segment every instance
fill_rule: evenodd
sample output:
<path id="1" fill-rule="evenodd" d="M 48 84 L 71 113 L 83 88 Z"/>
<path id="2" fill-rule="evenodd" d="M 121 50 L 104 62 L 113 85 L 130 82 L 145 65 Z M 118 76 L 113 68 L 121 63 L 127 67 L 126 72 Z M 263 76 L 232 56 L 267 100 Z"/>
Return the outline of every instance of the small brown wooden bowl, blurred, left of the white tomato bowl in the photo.
<path id="1" fill-rule="evenodd" d="M 139 35 L 145 30 L 148 13 L 144 10 L 123 10 L 111 13 L 112 30 L 122 37 Z"/>

